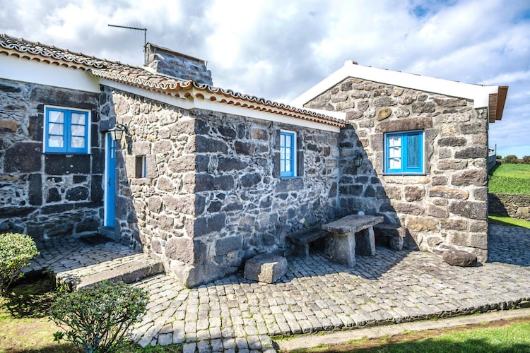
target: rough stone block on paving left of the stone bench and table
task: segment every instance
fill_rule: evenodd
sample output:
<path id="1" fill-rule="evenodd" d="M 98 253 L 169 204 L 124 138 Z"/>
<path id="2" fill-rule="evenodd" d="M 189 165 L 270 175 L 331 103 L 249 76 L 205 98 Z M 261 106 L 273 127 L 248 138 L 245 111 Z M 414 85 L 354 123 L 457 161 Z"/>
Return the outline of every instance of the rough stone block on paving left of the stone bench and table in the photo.
<path id="1" fill-rule="evenodd" d="M 287 259 L 269 253 L 250 258 L 245 263 L 244 276 L 247 280 L 274 283 L 287 271 Z"/>

